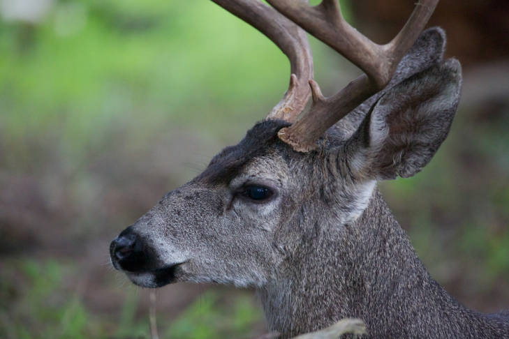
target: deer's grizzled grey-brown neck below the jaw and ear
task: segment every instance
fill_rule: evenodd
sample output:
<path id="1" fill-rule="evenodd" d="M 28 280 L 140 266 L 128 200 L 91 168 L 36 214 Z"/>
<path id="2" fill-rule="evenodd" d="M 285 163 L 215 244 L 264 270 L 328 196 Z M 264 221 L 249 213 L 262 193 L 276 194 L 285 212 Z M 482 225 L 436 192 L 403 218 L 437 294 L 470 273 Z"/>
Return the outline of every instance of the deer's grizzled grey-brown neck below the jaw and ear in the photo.
<path id="1" fill-rule="evenodd" d="M 491 338 L 492 319 L 459 305 L 429 276 L 377 190 L 354 223 L 320 231 L 259 291 L 270 329 L 283 338 L 345 317 L 363 319 L 379 338 L 452 338 L 461 331 Z"/>

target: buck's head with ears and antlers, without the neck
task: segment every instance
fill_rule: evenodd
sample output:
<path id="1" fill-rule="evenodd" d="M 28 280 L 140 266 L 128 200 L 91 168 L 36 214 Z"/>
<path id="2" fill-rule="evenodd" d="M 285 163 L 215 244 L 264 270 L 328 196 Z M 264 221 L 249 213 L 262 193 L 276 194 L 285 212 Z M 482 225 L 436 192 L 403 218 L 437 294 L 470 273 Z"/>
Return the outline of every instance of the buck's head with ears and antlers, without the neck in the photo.
<path id="1" fill-rule="evenodd" d="M 229 1 L 217 2 L 232 10 Z M 270 2 L 277 7 L 279 1 Z M 242 6 L 262 14 L 257 17 L 262 22 L 250 22 L 264 33 L 270 30 L 267 35 L 290 57 L 290 89 L 244 140 L 221 151 L 202 174 L 165 195 L 112 242 L 113 264 L 135 284 L 261 287 L 321 229 L 356 220 L 377 180 L 420 171 L 448 134 L 461 69 L 455 60 L 443 62 L 440 29 L 425 31 L 414 44 L 431 14 L 422 13 L 428 7 L 418 6 L 406 30 L 388 45 L 367 43 L 348 30 L 351 36 L 345 36 L 362 40 L 357 47 L 364 50 L 355 59 L 341 43 L 337 49 L 368 75 L 324 98 L 311 80 L 305 33 L 263 3 Z M 339 15 L 334 6 L 319 8 Z M 285 14 L 292 17 L 291 6 Z M 317 23 L 299 24 L 309 29 Z M 331 45 L 329 37 L 318 32 Z M 358 57 L 375 47 L 381 57 Z M 311 109 L 297 119 L 311 92 Z"/>

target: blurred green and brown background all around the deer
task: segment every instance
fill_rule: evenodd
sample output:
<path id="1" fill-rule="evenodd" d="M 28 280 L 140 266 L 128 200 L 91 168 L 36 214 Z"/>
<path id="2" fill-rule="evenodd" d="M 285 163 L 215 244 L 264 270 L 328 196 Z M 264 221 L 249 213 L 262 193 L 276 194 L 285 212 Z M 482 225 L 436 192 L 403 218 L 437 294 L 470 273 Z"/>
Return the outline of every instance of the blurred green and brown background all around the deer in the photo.
<path id="1" fill-rule="evenodd" d="M 341 5 L 384 42 L 413 2 Z M 509 308 L 508 13 L 439 4 L 462 104 L 429 166 L 381 185 L 432 276 L 482 311 Z M 311 45 L 326 94 L 358 74 Z M 0 338 L 151 338 L 149 292 L 110 267 L 110 240 L 263 119 L 288 70 L 211 1 L 0 0 Z M 252 292 L 156 294 L 161 338 L 265 331 Z"/>

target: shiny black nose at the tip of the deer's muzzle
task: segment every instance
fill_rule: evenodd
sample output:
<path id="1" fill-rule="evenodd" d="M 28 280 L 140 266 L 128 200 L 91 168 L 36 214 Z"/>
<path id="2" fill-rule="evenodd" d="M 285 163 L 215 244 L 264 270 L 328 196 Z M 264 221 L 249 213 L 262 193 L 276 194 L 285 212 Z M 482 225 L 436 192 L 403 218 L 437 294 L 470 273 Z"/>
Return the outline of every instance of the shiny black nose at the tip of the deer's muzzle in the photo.
<path id="1" fill-rule="evenodd" d="M 143 243 L 131 227 L 124 229 L 110 244 L 110 256 L 116 269 L 141 271 L 147 262 Z"/>

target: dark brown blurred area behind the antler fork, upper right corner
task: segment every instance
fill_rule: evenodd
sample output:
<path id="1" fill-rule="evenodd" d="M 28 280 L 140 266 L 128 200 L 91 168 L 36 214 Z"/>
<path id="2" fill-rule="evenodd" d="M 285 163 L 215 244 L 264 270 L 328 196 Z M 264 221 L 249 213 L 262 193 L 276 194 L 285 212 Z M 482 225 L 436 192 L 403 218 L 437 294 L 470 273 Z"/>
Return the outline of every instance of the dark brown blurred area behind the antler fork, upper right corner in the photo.
<path id="1" fill-rule="evenodd" d="M 390 40 L 408 18 L 414 0 L 351 1 L 355 26 L 377 43 Z M 509 57 L 508 0 L 442 0 L 428 27 L 447 32 L 447 57 L 465 67 L 473 63 Z"/>

